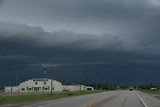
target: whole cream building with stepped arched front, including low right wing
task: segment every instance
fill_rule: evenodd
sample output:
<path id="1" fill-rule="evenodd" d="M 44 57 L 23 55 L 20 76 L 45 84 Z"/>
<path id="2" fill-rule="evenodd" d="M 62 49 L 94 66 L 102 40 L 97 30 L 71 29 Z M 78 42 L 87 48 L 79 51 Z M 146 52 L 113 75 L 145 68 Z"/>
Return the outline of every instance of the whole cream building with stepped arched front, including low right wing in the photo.
<path id="1" fill-rule="evenodd" d="M 63 85 L 61 82 L 49 78 L 35 78 L 20 83 L 18 86 L 6 86 L 5 92 L 59 92 L 94 90 L 84 85 Z"/>

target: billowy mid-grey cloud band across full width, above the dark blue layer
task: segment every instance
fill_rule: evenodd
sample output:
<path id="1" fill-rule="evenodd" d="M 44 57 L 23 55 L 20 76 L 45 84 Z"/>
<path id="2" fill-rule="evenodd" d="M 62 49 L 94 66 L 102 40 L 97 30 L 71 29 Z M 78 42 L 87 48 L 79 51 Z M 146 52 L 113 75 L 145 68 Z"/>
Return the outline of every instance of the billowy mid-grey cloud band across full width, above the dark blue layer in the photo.
<path id="1" fill-rule="evenodd" d="M 76 33 L 66 30 L 46 32 L 41 27 L 0 22 L 0 44 L 20 45 L 21 47 L 57 47 L 82 51 L 100 50 L 159 54 L 160 43 L 158 40 L 160 38 L 158 36 L 159 32 L 156 31 L 156 33 L 148 33 L 142 38 L 126 39 L 118 35 Z"/>

